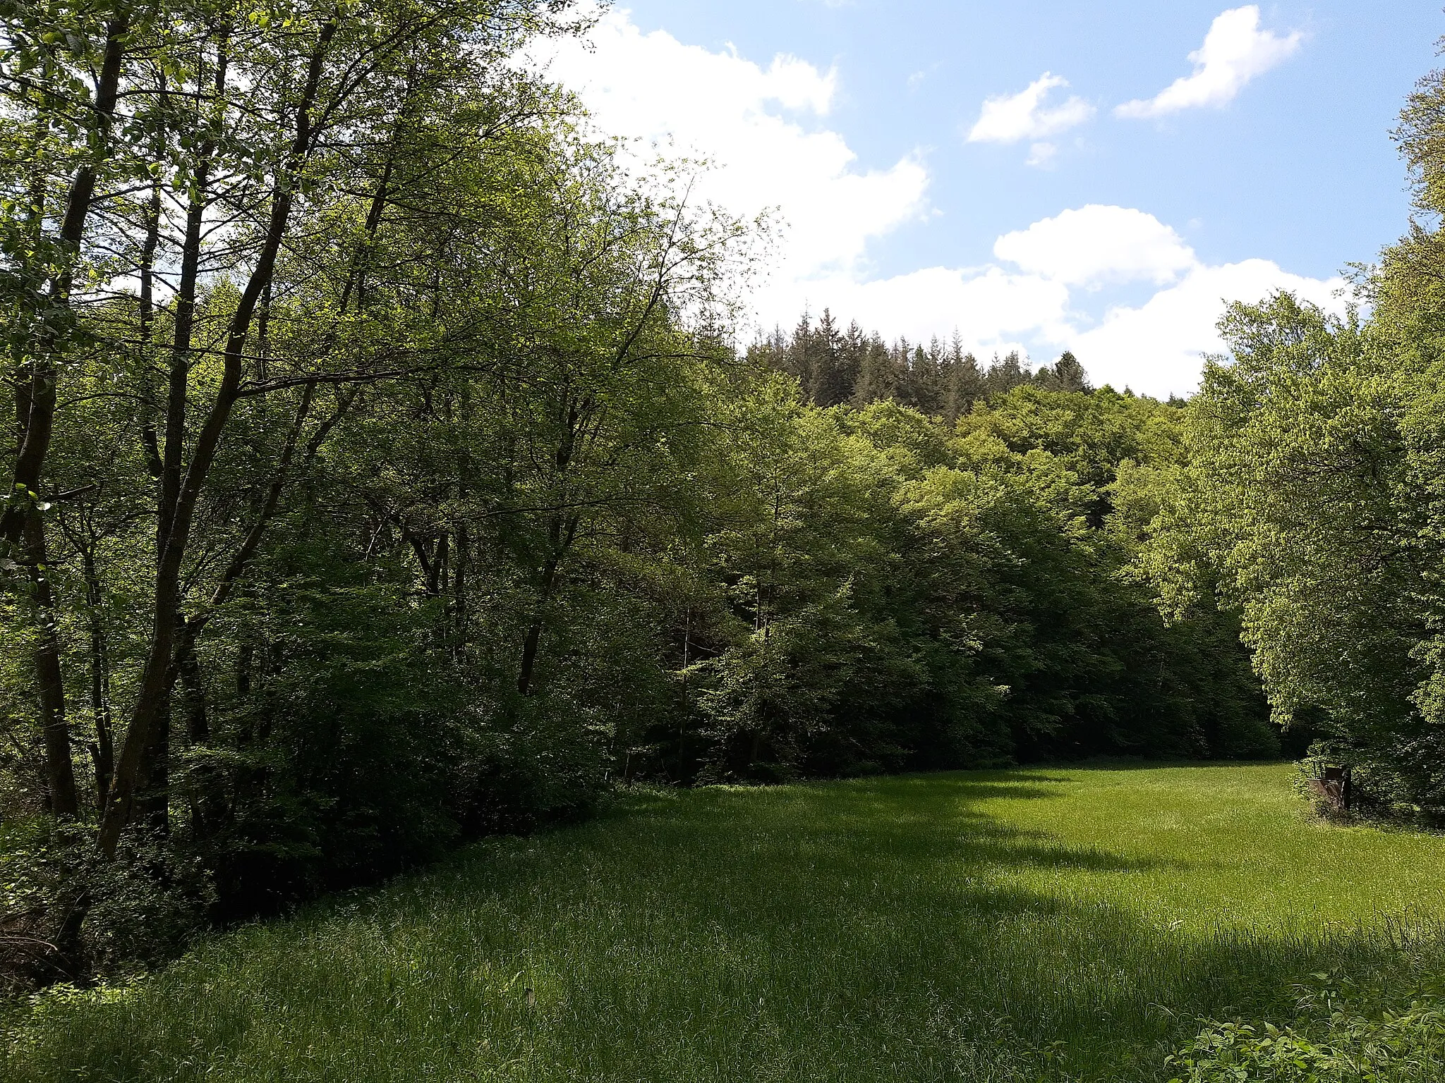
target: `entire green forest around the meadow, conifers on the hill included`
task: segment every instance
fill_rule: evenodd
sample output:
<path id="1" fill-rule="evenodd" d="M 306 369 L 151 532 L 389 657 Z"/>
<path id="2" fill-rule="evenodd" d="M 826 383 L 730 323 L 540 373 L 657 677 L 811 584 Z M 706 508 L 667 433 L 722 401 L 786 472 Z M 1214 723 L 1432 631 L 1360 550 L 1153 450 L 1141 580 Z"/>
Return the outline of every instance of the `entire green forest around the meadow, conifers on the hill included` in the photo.
<path id="1" fill-rule="evenodd" d="M 514 62 L 568 0 L 3 0 L 12 991 L 620 787 L 1300 760 L 1445 820 L 1445 75 L 1189 400 L 825 310 Z"/>

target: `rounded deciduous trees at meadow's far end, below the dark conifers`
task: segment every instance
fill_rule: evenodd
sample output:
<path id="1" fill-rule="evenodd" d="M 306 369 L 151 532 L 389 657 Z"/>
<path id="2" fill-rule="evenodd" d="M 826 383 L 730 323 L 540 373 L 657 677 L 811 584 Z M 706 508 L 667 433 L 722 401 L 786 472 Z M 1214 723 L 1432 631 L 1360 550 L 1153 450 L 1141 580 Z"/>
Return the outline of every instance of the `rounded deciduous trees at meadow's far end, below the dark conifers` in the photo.
<path id="1" fill-rule="evenodd" d="M 715 586 L 688 612 L 681 718 L 642 735 L 653 770 L 1277 755 L 1234 619 L 1166 627 L 1116 521 L 1123 484 L 1178 469 L 1176 409 L 1029 387 L 951 432 L 766 396 L 720 449 Z"/>

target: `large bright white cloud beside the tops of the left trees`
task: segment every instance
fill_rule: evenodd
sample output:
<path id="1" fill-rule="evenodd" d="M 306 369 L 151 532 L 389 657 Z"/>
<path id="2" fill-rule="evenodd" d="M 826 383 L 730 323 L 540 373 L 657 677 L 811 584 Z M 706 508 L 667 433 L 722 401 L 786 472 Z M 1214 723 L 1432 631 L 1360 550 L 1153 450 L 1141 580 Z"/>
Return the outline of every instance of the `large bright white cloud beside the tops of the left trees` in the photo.
<path id="1" fill-rule="evenodd" d="M 870 240 L 925 211 L 918 155 L 863 170 L 842 136 L 818 124 L 838 94 L 835 71 L 795 56 L 764 68 L 733 49 L 643 33 L 626 10 L 604 16 L 590 46 L 558 43 L 549 75 L 579 94 L 604 131 L 707 159 L 699 198 L 749 218 L 777 208 L 786 232 L 775 283 L 850 273 Z"/>

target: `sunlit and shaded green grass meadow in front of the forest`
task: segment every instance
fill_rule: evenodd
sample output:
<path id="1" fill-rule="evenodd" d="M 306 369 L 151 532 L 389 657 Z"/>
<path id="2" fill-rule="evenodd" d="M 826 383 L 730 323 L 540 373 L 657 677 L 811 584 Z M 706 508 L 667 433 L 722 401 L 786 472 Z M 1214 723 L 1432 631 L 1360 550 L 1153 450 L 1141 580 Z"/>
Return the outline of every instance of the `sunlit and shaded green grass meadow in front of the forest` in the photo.
<path id="1" fill-rule="evenodd" d="M 1290 768 L 636 793 L 14 1018 L 6 1080 L 1159 1080 L 1445 915 Z M 527 989 L 535 991 L 529 1005 Z"/>

